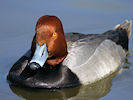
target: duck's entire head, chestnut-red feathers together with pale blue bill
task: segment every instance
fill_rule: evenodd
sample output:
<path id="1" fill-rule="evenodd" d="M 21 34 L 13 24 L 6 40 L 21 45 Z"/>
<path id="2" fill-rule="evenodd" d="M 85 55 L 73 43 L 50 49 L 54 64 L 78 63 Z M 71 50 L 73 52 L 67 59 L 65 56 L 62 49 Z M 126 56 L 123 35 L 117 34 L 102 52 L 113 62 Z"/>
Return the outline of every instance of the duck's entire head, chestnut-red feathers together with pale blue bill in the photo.
<path id="1" fill-rule="evenodd" d="M 56 16 L 42 16 L 36 24 L 28 65 L 35 70 L 45 63 L 56 66 L 67 56 L 67 44 L 62 23 Z"/>

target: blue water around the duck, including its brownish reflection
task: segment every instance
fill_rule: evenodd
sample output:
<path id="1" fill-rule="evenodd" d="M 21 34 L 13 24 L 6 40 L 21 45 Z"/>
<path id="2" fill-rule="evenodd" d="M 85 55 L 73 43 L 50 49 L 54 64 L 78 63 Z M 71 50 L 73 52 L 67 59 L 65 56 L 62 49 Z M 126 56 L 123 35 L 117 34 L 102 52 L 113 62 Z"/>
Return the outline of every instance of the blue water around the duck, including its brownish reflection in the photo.
<path id="1" fill-rule="evenodd" d="M 113 80 L 48 91 L 9 87 L 6 75 L 31 45 L 37 19 L 56 15 L 65 32 L 102 33 L 133 20 L 132 0 L 0 0 L 0 100 L 133 100 L 133 34 L 128 62 Z M 13 92 L 14 91 L 14 92 Z"/>

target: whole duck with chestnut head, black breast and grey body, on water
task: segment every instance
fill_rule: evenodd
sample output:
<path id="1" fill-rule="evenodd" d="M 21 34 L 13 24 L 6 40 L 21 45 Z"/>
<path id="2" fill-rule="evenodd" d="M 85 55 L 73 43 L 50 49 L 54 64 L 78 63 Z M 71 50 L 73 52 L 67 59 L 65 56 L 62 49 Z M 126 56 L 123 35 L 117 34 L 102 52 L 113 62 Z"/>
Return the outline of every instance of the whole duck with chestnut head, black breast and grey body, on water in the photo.
<path id="1" fill-rule="evenodd" d="M 64 33 L 57 16 L 36 23 L 30 49 L 9 70 L 10 84 L 58 89 L 94 83 L 115 72 L 128 54 L 132 21 L 102 34 Z"/>

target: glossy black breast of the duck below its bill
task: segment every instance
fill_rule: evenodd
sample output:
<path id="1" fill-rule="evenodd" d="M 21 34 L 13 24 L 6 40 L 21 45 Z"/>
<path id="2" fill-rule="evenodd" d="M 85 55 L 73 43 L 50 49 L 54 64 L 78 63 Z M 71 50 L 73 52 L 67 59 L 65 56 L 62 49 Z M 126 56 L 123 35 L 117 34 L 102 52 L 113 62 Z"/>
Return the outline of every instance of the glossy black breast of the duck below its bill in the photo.
<path id="1" fill-rule="evenodd" d="M 23 56 L 9 71 L 7 79 L 12 84 L 31 88 L 67 88 L 80 85 L 78 77 L 66 66 L 45 65 L 44 68 L 33 71 L 26 66 L 27 60 Z"/>

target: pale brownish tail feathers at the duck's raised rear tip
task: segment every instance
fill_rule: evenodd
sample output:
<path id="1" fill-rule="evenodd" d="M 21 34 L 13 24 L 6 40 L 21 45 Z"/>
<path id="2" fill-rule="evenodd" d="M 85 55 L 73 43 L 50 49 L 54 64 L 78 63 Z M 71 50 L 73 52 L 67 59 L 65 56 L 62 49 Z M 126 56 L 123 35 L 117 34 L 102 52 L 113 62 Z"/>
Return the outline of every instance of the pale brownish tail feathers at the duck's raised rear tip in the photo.
<path id="1" fill-rule="evenodd" d="M 132 27 L 132 21 L 125 20 L 123 23 L 116 25 L 113 30 L 120 30 L 124 29 L 127 31 L 128 39 L 131 36 L 131 27 Z"/>

